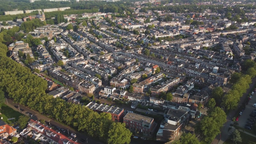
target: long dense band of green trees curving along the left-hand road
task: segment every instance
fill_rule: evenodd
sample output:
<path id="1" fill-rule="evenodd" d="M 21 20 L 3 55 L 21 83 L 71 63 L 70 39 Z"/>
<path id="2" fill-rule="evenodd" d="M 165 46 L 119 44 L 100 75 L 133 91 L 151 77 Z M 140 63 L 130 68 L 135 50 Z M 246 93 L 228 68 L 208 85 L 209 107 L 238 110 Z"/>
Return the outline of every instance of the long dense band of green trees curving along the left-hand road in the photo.
<path id="1" fill-rule="evenodd" d="M 125 128 L 125 124 L 113 122 L 110 114 L 98 114 L 85 106 L 47 95 L 46 81 L 6 57 L 6 47 L 0 52 L 0 88 L 15 102 L 109 144 L 130 143 L 132 133 Z"/>

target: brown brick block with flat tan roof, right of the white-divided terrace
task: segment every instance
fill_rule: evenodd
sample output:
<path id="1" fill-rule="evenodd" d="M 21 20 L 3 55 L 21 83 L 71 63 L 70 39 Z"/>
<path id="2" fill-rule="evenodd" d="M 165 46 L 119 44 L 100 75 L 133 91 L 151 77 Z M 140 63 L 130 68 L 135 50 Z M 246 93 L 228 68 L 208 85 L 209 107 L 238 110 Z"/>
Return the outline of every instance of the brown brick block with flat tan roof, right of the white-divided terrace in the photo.
<path id="1" fill-rule="evenodd" d="M 151 136 L 156 130 L 154 118 L 128 112 L 124 116 L 125 127 L 132 132 L 141 132 L 143 135 Z"/>

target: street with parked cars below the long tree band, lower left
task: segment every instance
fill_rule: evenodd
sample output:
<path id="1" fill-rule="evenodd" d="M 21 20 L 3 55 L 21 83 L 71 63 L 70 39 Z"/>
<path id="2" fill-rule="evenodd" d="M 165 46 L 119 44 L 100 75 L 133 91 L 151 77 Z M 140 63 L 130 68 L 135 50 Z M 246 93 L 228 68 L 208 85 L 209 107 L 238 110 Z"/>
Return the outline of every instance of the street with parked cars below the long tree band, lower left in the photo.
<path id="1" fill-rule="evenodd" d="M 7 102 L 8 102 L 8 103 L 7 103 Z M 79 132 L 75 131 L 73 128 L 71 128 L 71 127 L 69 127 L 69 126 L 61 125 L 61 124 L 59 124 L 58 122 L 56 122 L 56 121 L 54 121 L 54 120 L 52 120 L 52 119 L 50 119 L 50 118 L 48 118 L 48 117 L 46 117 L 46 116 L 43 116 L 43 115 L 39 114 L 38 112 L 36 112 L 36 111 L 34 111 L 34 110 L 31 110 L 31 109 L 29 109 L 29 108 L 27 108 L 27 107 L 25 107 L 25 106 L 23 106 L 23 105 L 21 105 L 21 104 L 14 103 L 14 102 L 13 102 L 12 100 L 10 100 L 10 99 L 7 99 L 7 102 L 5 101 L 5 104 L 8 105 L 9 107 L 13 108 L 13 109 L 16 110 L 16 111 L 19 111 L 19 110 L 18 110 L 17 108 L 15 108 L 14 106 L 18 106 L 18 105 L 19 105 L 20 108 L 22 108 L 22 109 L 25 110 L 25 111 L 22 113 L 22 114 L 24 114 L 24 115 L 26 115 L 25 112 L 30 112 L 30 113 L 32 113 L 32 114 L 33 114 L 33 116 L 32 116 L 32 119 L 33 119 L 33 120 L 40 120 L 40 119 L 42 119 L 42 120 L 45 120 L 46 122 L 49 122 L 49 121 L 50 121 L 51 126 L 52 126 L 52 125 L 55 125 L 55 126 L 58 126 L 58 127 L 62 128 L 62 129 L 64 129 L 64 130 L 67 130 L 67 129 L 68 129 L 69 134 L 70 134 L 70 133 L 75 133 L 75 134 L 76 134 L 76 139 L 77 139 L 78 142 L 81 143 L 81 144 L 82 144 L 83 142 L 81 142 L 80 139 L 84 139 L 85 141 L 86 141 L 86 139 L 87 139 L 87 140 L 88 140 L 88 144 L 103 144 L 102 142 L 93 140 L 92 138 L 86 136 L 86 135 L 83 134 L 83 133 L 79 133 Z M 56 127 L 55 127 L 55 128 L 56 128 Z M 63 132 L 61 132 L 61 133 L 63 133 Z M 63 134 L 66 135 L 66 136 L 68 136 L 67 133 L 63 133 Z M 87 142 L 85 142 L 85 143 L 87 143 Z"/>

